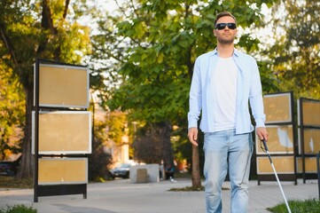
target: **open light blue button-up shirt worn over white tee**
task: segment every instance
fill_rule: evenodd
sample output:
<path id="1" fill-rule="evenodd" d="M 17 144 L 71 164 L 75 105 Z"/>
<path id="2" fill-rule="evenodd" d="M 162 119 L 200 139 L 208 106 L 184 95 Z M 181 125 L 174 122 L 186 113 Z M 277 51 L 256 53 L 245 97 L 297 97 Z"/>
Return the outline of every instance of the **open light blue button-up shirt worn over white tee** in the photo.
<path id="1" fill-rule="evenodd" d="M 202 113 L 200 129 L 203 132 L 216 131 L 210 78 L 215 70 L 218 57 L 218 52 L 215 49 L 215 51 L 202 54 L 196 59 L 191 81 L 188 128 L 198 127 L 199 115 Z M 235 49 L 232 59 L 238 67 L 236 133 L 242 134 L 254 130 L 249 113 L 249 101 L 256 127 L 265 127 L 261 80 L 257 63 L 253 57 Z"/>

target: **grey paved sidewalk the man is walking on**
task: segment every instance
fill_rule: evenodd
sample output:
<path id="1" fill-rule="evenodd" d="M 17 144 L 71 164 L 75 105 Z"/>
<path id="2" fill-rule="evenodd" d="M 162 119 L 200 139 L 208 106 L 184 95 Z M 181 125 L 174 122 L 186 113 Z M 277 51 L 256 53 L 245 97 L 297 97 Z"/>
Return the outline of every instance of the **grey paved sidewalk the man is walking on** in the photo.
<path id="1" fill-rule="evenodd" d="M 160 181 L 152 184 L 130 184 L 128 179 L 93 183 L 87 187 L 87 199 L 82 194 L 39 197 L 34 201 L 33 189 L 0 188 L 0 209 L 6 205 L 25 204 L 39 213 L 205 213 L 204 192 L 169 192 L 171 188 L 191 186 L 190 179 L 176 183 Z M 250 182 L 249 213 L 266 213 L 266 208 L 284 202 L 277 182 Z M 287 200 L 318 198 L 317 180 L 298 185 L 282 182 Z M 225 182 L 223 187 L 230 188 Z M 223 213 L 230 212 L 230 190 L 222 191 Z"/>

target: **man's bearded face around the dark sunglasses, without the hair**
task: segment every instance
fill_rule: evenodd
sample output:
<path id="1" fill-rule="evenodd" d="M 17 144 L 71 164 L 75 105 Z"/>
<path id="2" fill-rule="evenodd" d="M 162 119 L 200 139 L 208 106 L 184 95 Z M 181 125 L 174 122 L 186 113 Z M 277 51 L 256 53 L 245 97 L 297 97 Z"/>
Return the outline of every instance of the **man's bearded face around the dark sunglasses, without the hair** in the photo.
<path id="1" fill-rule="evenodd" d="M 223 16 L 219 20 L 216 21 L 216 25 L 220 23 L 235 23 L 235 20 L 232 19 L 230 16 Z M 218 40 L 218 43 L 222 44 L 230 44 L 233 43 L 235 36 L 237 35 L 237 28 L 230 29 L 225 27 L 223 29 L 214 29 L 214 35 Z"/>

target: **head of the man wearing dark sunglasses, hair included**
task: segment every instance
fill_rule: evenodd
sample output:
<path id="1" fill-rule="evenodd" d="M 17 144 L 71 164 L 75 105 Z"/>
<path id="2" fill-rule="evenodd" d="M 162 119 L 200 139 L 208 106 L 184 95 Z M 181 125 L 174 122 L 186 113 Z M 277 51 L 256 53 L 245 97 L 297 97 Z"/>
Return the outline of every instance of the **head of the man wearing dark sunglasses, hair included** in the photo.
<path id="1" fill-rule="evenodd" d="M 214 35 L 218 43 L 233 43 L 237 35 L 237 20 L 230 12 L 220 12 L 216 16 Z"/>

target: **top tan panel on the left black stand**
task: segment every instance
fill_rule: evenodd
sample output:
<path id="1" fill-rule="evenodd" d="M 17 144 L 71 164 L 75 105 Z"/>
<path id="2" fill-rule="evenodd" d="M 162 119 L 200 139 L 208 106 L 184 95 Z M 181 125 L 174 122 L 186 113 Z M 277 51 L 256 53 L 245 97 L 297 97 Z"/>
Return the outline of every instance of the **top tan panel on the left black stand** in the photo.
<path id="1" fill-rule="evenodd" d="M 89 106 L 87 67 L 39 65 L 39 106 Z"/>

